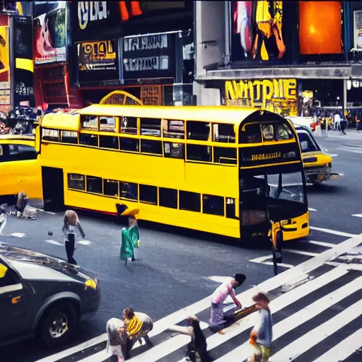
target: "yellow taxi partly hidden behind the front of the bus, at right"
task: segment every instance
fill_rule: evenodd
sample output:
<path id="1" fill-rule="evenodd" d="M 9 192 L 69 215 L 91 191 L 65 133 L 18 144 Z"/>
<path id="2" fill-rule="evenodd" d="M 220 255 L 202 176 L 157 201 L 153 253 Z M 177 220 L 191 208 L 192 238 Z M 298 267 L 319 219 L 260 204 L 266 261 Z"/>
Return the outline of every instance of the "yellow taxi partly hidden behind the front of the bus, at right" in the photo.
<path id="1" fill-rule="evenodd" d="M 304 126 L 294 126 L 302 149 L 305 178 L 308 183 L 319 185 L 324 181 L 337 180 L 339 173 L 332 172 L 332 157 L 317 143 L 313 133 Z"/>

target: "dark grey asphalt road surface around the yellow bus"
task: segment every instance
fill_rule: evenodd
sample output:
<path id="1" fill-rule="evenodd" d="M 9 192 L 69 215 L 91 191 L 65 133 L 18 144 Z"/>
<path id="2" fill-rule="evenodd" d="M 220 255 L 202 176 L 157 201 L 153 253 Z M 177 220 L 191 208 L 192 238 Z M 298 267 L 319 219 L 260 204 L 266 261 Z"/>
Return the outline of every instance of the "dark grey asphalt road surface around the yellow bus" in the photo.
<path id="1" fill-rule="evenodd" d="M 334 156 L 333 169 L 341 176 L 339 180 L 318 187 L 308 187 L 310 226 L 312 226 L 310 235 L 306 240 L 293 241 L 285 245 L 284 264 L 281 264 L 279 271 L 291 270 L 298 264 L 318 257 L 323 252 L 332 250 L 337 244 L 362 233 L 362 189 L 359 182 L 362 175 L 362 134 L 349 132 L 346 136 L 339 136 L 334 132 L 328 139 L 317 140 L 329 154 Z M 122 225 L 115 219 L 99 215 L 80 214 L 80 219 L 86 238 L 85 240 L 78 238 L 74 257 L 78 264 L 92 271 L 100 279 L 102 300 L 98 314 L 93 319 L 83 322 L 74 339 L 62 349 L 49 351 L 35 341 L 25 341 L 1 348 L 1 361 L 33 362 L 88 341 L 103 334 L 107 320 L 110 317 L 121 317 L 125 307 L 147 313 L 154 321 L 160 320 L 176 310 L 206 298 L 219 285 L 222 277 L 232 276 L 236 272 L 247 275 L 245 287 L 240 288 L 238 293 L 273 276 L 270 245 L 238 245 L 225 238 L 148 223 L 140 225 L 141 247 L 136 250 L 136 262 L 126 266 L 119 259 Z M 40 212 L 36 221 L 9 217 L 4 233 L 13 236 L 0 236 L 0 240 L 18 247 L 66 258 L 61 228 L 62 214 Z M 48 231 L 52 231 L 53 235 L 49 236 Z M 315 271 L 315 276 L 324 275 L 333 268 L 335 266 L 325 265 Z M 333 290 L 358 278 L 359 274 L 347 273 L 338 277 L 345 280 L 338 279 Z M 294 313 L 295 305 L 303 309 L 327 295 L 327 291 L 320 293 L 318 291 L 319 289 L 314 291 L 310 298 L 303 300 L 303 303 L 300 303 L 300 300 L 292 300 L 288 307 L 289 311 L 286 310 L 275 316 L 276 322 Z M 328 289 L 328 292 L 332 290 Z M 348 302 L 342 300 L 337 310 L 348 310 L 349 306 L 361 299 L 360 292 L 361 289 L 356 291 L 356 295 L 346 298 Z M 322 315 L 319 320 L 313 320 L 313 323 L 318 327 L 330 317 L 328 314 Z M 201 314 L 200 318 L 207 322 L 205 313 Z M 349 324 L 341 325 L 336 333 L 329 336 L 329 344 L 326 346 L 330 349 L 347 335 L 356 332 L 359 328 L 356 321 L 361 326 L 361 320 L 351 320 Z M 280 341 L 276 353 L 279 353 L 281 359 L 276 358 L 275 361 L 288 361 L 288 358 L 283 359 L 286 358 L 283 355 L 284 349 L 292 345 L 293 339 L 297 340 L 307 332 L 305 327 L 301 326 L 295 334 L 292 332 Z M 247 341 L 247 331 L 243 332 L 243 338 L 233 342 L 235 344 L 233 348 L 245 341 Z M 100 347 L 103 349 L 104 344 Z M 361 346 L 356 346 L 355 349 L 359 347 Z M 327 349 L 320 346 L 310 348 L 313 358 L 327 352 Z M 222 361 L 222 356 L 225 355 L 229 356 L 225 361 L 233 361 L 230 351 L 230 345 L 217 346 L 213 357 L 221 358 Z M 98 350 L 94 349 L 92 354 L 97 352 Z M 176 352 L 173 352 L 172 358 L 170 355 L 154 361 L 179 361 L 177 358 L 182 351 L 180 349 L 179 354 Z M 227 355 L 228 353 L 230 355 Z M 303 353 L 299 356 L 304 358 L 303 361 L 314 361 L 309 359 L 312 357 Z M 80 361 L 86 356 L 88 355 L 74 355 L 69 361 Z M 351 356 L 350 361 L 357 361 L 356 356 L 362 358 L 361 355 L 355 354 Z M 92 361 L 105 361 L 105 358 L 94 358 Z M 299 361 L 298 357 L 293 361 Z"/>

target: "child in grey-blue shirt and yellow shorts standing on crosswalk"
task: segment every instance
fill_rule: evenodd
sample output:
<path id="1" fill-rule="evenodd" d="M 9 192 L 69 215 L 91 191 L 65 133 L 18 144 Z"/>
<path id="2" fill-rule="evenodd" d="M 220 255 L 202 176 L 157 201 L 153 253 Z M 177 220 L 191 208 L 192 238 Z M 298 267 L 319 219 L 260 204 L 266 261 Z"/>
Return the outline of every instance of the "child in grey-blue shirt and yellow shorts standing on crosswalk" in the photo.
<path id="1" fill-rule="evenodd" d="M 271 356 L 271 341 L 273 339 L 273 319 L 269 309 L 269 298 L 265 293 L 259 292 L 252 300 L 259 310 L 259 318 L 250 333 L 250 344 L 255 353 L 244 362 L 268 362 Z"/>

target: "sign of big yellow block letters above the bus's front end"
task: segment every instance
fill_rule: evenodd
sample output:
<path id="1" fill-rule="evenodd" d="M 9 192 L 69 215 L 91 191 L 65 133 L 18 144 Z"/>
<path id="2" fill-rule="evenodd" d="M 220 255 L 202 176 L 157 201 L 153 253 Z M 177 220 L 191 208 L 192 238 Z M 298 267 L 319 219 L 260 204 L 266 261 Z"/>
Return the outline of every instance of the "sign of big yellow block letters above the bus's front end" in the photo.
<path id="1" fill-rule="evenodd" d="M 296 79 L 264 79 L 264 81 L 226 81 L 226 104 L 248 100 L 250 106 L 267 108 L 268 101 L 296 100 Z"/>

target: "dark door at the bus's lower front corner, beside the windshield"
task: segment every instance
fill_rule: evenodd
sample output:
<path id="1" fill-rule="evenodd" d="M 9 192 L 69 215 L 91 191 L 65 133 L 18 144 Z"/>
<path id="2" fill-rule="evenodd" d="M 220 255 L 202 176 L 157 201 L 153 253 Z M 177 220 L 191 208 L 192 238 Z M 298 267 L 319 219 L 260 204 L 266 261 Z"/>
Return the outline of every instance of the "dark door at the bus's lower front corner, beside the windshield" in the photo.
<path id="1" fill-rule="evenodd" d="M 262 170 L 240 173 L 240 234 L 242 240 L 267 238 L 269 187 Z"/>

